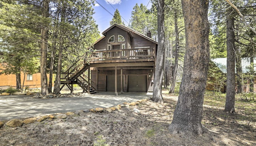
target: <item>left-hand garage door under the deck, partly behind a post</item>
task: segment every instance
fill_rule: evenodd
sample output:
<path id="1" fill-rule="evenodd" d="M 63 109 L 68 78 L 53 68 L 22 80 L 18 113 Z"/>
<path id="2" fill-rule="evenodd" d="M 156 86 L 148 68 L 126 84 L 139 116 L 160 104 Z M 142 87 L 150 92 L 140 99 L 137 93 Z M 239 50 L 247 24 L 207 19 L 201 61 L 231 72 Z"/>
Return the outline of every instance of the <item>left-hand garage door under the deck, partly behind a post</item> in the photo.
<path id="1" fill-rule="evenodd" d="M 107 75 L 107 91 L 115 92 L 115 75 Z M 121 92 L 121 76 L 117 76 L 117 92 Z"/>

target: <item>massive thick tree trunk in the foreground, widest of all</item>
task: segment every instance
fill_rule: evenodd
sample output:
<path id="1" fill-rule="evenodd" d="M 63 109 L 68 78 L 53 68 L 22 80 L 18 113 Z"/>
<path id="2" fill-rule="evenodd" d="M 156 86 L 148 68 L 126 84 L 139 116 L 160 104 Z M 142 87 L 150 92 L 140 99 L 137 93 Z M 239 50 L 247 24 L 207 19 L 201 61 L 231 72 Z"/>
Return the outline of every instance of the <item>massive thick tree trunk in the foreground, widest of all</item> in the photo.
<path id="1" fill-rule="evenodd" d="M 180 95 L 169 126 L 172 134 L 201 135 L 204 92 L 209 63 L 208 0 L 182 0 L 186 52 Z"/>

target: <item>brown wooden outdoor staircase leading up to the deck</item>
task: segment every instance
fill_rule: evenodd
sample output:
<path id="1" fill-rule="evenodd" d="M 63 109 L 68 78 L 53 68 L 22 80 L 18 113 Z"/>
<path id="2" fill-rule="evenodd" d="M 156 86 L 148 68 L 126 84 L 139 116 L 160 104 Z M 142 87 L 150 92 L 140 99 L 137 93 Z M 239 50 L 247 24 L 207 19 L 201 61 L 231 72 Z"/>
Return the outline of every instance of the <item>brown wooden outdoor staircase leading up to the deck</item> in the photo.
<path id="1" fill-rule="evenodd" d="M 84 59 L 84 57 L 81 57 L 65 72 L 61 73 L 61 84 L 63 84 L 61 90 L 65 85 L 67 85 L 72 93 L 73 84 L 77 84 L 84 90 L 84 92 L 88 94 L 97 93 L 97 85 L 85 74 L 85 71 L 88 69 L 89 65 L 86 63 L 86 59 Z"/>

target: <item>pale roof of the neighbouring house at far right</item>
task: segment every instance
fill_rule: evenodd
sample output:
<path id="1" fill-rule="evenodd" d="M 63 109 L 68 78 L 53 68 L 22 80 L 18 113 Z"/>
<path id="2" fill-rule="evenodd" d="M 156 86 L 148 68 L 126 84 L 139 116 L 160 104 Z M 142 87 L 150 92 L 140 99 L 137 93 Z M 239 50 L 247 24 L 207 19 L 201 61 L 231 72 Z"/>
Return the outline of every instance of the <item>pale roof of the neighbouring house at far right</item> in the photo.
<path id="1" fill-rule="evenodd" d="M 242 72 L 243 73 L 249 73 L 250 72 L 250 57 L 244 57 L 242 59 Z M 227 73 L 227 58 L 215 58 L 211 59 L 211 61 L 214 62 L 214 64 L 223 72 Z M 253 60 L 254 62 L 254 71 L 256 71 L 256 58 Z"/>

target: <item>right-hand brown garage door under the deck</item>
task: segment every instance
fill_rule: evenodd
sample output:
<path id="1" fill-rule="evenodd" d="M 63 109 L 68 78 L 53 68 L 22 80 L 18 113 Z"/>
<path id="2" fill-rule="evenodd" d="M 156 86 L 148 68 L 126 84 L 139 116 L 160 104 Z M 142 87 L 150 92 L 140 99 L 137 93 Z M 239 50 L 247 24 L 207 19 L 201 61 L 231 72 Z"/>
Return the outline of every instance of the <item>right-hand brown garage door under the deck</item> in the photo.
<path id="1" fill-rule="evenodd" d="M 147 92 L 147 75 L 128 75 L 128 92 Z"/>

